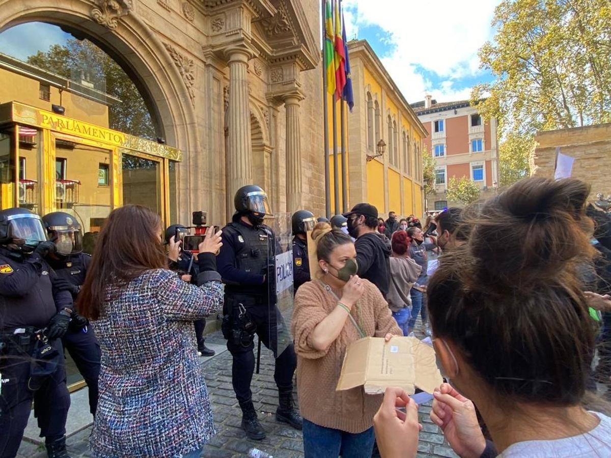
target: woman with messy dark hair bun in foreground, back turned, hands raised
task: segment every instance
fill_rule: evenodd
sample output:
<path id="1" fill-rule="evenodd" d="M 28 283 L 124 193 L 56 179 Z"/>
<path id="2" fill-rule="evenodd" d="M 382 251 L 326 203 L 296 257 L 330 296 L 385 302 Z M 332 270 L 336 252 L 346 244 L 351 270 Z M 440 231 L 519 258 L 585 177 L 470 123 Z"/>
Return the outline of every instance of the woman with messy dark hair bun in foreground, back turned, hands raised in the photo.
<path id="1" fill-rule="evenodd" d="M 611 456 L 611 418 L 583 407 L 595 322 L 576 269 L 595 255 L 589 193 L 579 180 L 519 181 L 465 214 L 468 238 L 431 277 L 433 345 L 452 381 L 434 393 L 431 419 L 459 456 L 496 453 L 474 405 L 504 458 Z M 415 456 L 414 412 L 387 390 L 375 419 L 382 456 Z"/>

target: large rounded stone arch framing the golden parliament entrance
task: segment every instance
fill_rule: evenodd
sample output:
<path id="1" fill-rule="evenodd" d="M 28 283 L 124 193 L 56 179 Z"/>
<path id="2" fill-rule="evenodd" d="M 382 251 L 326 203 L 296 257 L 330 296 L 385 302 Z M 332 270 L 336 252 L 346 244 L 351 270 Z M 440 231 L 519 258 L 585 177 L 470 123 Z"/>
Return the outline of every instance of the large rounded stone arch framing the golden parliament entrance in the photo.
<path id="1" fill-rule="evenodd" d="M 196 182 L 197 156 L 201 147 L 194 129 L 195 96 L 188 59 L 168 43 L 161 43 L 147 24 L 133 12 L 131 2 L 96 0 L 0 0 L 0 31 L 20 23 L 40 21 L 69 27 L 113 57 L 133 78 L 166 143 L 183 151 L 178 170 L 180 219 L 188 220 L 190 208 L 203 208 L 203 192 Z M 100 14 L 101 13 L 101 14 Z M 192 62 L 191 62 L 192 67 Z M 191 73 L 190 73 L 191 72 Z"/>

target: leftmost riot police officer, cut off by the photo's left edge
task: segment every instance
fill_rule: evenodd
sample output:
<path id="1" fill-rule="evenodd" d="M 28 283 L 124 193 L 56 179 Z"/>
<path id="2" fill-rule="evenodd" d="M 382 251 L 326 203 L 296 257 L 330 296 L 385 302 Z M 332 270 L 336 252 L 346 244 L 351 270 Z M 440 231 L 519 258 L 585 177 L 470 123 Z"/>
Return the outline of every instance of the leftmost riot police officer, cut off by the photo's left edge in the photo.
<path id="1" fill-rule="evenodd" d="M 72 296 L 56 288 L 45 261 L 54 250 L 40 216 L 24 208 L 0 211 L 0 456 L 14 457 L 32 399 L 50 458 L 70 458 L 65 424 L 70 407 L 61 337 Z"/>

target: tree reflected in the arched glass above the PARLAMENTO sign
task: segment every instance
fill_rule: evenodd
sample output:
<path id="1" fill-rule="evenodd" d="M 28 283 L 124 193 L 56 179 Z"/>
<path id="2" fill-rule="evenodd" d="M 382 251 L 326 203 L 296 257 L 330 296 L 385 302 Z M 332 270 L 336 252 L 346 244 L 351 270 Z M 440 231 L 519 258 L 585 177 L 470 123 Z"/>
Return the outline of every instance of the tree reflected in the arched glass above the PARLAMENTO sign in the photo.
<path id="1" fill-rule="evenodd" d="M 85 76 L 95 89 L 121 100 L 108 107 L 111 129 L 137 137 L 156 138 L 144 98 L 130 76 L 89 40 L 71 39 L 66 45 L 52 45 L 46 53 L 38 51 L 29 56 L 27 62 L 77 82 Z"/>

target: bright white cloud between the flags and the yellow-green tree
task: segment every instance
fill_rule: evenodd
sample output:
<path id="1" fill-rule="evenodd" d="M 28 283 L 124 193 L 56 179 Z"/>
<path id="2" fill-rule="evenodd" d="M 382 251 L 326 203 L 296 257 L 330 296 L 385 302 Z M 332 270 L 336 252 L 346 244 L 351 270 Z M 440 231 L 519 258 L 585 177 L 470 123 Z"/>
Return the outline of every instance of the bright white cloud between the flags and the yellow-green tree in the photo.
<path id="1" fill-rule="evenodd" d="M 427 92 L 438 101 L 469 98 L 470 88 L 456 89 L 456 83 L 478 75 L 477 51 L 492 38 L 492 14 L 499 1 L 343 0 L 342 5 L 348 38 L 354 36 L 348 30 L 358 33 L 363 26 L 378 26 L 387 33 L 382 40 L 390 51 L 379 57 L 412 102 Z M 426 81 L 419 67 L 436 73 L 441 84 Z"/>

